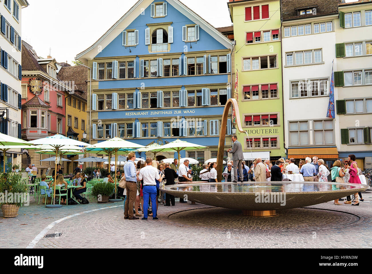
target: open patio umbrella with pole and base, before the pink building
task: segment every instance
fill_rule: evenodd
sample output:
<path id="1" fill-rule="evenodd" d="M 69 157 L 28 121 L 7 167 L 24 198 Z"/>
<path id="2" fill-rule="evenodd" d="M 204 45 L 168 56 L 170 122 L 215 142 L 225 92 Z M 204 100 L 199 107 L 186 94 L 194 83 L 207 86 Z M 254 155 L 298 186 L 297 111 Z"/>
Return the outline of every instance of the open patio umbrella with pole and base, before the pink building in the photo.
<path id="1" fill-rule="evenodd" d="M 87 143 L 68 138 L 61 134 L 55 134 L 55 135 L 48 136 L 45 138 L 36 139 L 30 142 L 34 145 L 50 145 L 51 147 L 49 149 L 55 152 L 55 158 L 58 157 L 58 151 L 60 149 L 63 149 L 65 146 L 69 146 L 69 145 L 83 146 L 83 147 L 89 146 L 89 144 Z M 55 162 L 55 170 L 57 170 L 57 162 Z M 54 182 L 56 181 L 57 181 L 57 172 L 55 172 L 54 174 Z M 54 185 L 54 190 L 53 190 L 53 205 L 46 205 L 46 207 L 47 208 L 62 207 L 62 205 L 55 205 L 55 185 Z"/>

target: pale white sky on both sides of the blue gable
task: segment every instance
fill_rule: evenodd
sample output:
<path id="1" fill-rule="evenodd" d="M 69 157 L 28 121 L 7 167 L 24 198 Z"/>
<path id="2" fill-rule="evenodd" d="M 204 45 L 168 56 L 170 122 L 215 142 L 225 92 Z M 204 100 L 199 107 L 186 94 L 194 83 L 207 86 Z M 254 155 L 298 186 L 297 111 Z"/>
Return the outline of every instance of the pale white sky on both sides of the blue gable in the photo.
<path id="1" fill-rule="evenodd" d="M 228 0 L 182 0 L 215 27 L 232 25 Z M 71 64 L 76 54 L 98 40 L 137 0 L 28 0 L 22 9 L 22 40 L 38 56 Z"/>

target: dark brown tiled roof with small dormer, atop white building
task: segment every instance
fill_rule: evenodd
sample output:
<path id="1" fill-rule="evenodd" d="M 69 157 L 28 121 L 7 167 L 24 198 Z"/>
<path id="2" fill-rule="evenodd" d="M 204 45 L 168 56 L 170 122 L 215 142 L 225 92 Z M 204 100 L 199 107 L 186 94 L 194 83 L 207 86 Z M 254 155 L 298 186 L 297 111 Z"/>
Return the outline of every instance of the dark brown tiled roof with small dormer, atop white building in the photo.
<path id="1" fill-rule="evenodd" d="M 283 21 L 337 14 L 340 3 L 341 0 L 282 0 Z M 315 14 L 297 15 L 296 9 L 299 7 L 312 8 L 314 6 Z"/>

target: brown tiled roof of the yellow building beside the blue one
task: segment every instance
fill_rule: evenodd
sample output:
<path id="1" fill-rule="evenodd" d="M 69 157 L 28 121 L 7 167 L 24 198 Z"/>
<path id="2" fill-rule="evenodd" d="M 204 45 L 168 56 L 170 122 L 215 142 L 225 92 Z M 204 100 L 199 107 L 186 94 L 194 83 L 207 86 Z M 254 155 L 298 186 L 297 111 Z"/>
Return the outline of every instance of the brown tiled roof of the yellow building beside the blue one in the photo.
<path id="1" fill-rule="evenodd" d="M 80 65 L 61 67 L 60 71 L 58 72 L 58 78 L 61 79 L 61 81 L 74 81 L 74 89 L 76 90 L 74 95 L 87 100 L 87 67 Z"/>

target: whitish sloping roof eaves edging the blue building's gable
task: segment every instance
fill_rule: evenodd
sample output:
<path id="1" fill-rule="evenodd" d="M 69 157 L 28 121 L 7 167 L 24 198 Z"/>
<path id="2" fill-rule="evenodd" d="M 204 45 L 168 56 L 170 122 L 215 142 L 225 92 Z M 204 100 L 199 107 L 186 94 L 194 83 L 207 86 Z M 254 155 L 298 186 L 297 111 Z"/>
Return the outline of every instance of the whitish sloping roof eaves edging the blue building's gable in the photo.
<path id="1" fill-rule="evenodd" d="M 200 27 L 206 31 L 212 37 L 219 37 L 221 38 L 221 44 L 227 48 L 232 48 L 231 41 L 225 37 L 221 32 L 219 32 L 214 26 L 210 23 L 206 22 L 203 18 L 201 18 L 198 14 L 196 14 L 193 10 L 187 7 L 179 0 L 167 0 L 167 2 L 173 6 L 176 10 L 183 13 L 186 17 L 190 19 L 190 21 L 196 21 L 200 25 Z M 78 53 L 75 57 L 76 60 L 80 60 L 83 63 L 88 63 L 87 60 L 93 59 L 97 55 L 98 47 L 105 48 L 114 38 L 116 38 L 119 34 L 121 34 L 122 30 L 125 29 L 131 21 L 133 21 L 133 17 L 137 18 L 143 12 L 144 7 L 148 7 L 153 0 L 138 0 L 129 10 L 126 12 L 116 23 L 103 34 L 93 45 L 91 45 L 86 50 Z M 130 18 L 129 18 L 130 16 Z M 125 20 L 129 18 L 128 20 Z M 132 18 L 132 19 L 131 19 Z M 130 21 L 130 22 L 129 22 Z"/>

